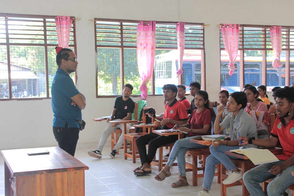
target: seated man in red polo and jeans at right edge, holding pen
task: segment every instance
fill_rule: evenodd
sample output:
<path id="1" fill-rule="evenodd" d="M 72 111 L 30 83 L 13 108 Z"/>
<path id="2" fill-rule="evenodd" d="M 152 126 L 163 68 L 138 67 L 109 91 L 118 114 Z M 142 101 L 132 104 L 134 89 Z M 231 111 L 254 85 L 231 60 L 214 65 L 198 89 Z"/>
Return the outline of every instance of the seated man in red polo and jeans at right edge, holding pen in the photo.
<path id="1" fill-rule="evenodd" d="M 265 148 L 273 148 L 280 142 L 283 149 L 283 153 L 277 155 L 279 161 L 258 165 L 243 175 L 243 182 L 251 195 L 265 196 L 259 183 L 271 178 L 273 181 L 267 187 L 269 196 L 283 195 L 283 191 L 294 183 L 294 176 L 291 175 L 291 171 L 294 171 L 294 89 L 277 89 L 275 95 L 279 118 L 276 118 L 271 136 L 266 139 L 239 138 L 244 145 L 254 144 Z"/>

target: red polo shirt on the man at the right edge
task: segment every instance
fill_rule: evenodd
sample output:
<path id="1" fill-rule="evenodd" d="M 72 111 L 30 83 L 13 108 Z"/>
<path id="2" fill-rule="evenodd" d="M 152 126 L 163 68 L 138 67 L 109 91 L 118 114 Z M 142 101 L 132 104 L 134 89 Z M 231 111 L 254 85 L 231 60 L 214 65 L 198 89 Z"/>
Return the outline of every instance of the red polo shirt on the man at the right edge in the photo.
<path id="1" fill-rule="evenodd" d="M 270 133 L 273 137 L 279 138 L 283 153 L 277 155 L 279 160 L 287 160 L 294 154 L 294 119 L 285 126 L 279 118 L 276 118 L 273 130 Z"/>

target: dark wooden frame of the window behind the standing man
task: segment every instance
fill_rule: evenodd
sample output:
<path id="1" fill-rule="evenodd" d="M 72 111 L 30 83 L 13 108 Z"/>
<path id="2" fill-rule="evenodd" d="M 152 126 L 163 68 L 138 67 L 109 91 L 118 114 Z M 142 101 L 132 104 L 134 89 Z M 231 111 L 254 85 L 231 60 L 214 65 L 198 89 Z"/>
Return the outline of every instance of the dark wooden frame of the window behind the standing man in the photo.
<path id="1" fill-rule="evenodd" d="M 47 15 L 32 15 L 32 14 L 13 14 L 13 13 L 0 13 L 0 17 L 5 17 L 5 26 L 6 26 L 6 43 L 0 43 L 0 45 L 2 46 L 6 46 L 6 52 L 7 52 L 7 67 L 8 67 L 8 83 L 9 83 L 9 98 L 1 98 L 0 101 L 7 101 L 7 100 L 43 100 L 43 99 L 51 99 L 50 96 L 50 91 L 49 89 L 51 88 L 49 86 L 49 62 L 48 62 L 48 47 L 56 47 L 58 46 L 58 40 L 57 40 L 57 35 L 50 35 L 47 32 L 54 32 L 54 31 L 48 31 L 47 28 L 48 27 L 55 27 L 55 26 L 48 26 L 47 23 L 50 23 L 50 21 L 47 21 L 48 19 L 53 19 L 54 23 L 55 23 L 55 17 L 56 16 L 47 16 Z M 30 19 L 43 19 L 43 40 L 44 43 L 10 43 L 9 42 L 9 35 L 11 35 L 9 33 L 9 29 L 8 29 L 8 18 L 23 18 L 23 19 L 28 19 L 28 21 L 30 21 Z M 72 21 L 72 31 L 71 33 L 73 33 L 73 40 L 70 40 L 73 42 L 73 44 L 70 44 L 69 47 L 74 48 L 74 52 L 77 55 L 77 43 L 76 43 L 76 27 L 75 27 L 75 17 L 70 16 L 70 18 L 73 20 Z M 41 21 L 40 21 L 41 22 Z M 20 31 L 22 31 L 23 29 L 20 29 Z M 56 31 L 55 31 L 56 32 Z M 47 41 L 49 41 L 50 39 L 47 39 L 50 36 L 54 36 L 56 37 L 56 39 L 52 40 L 52 41 L 57 41 L 57 44 L 52 44 L 52 43 L 47 43 Z M 27 98 L 13 98 L 12 97 L 12 78 L 11 78 L 11 65 L 13 65 L 13 63 L 10 62 L 10 47 L 11 46 L 36 46 L 36 47 L 43 47 L 44 48 L 44 57 L 45 57 L 45 79 L 46 79 L 46 97 L 27 97 Z M 56 62 L 55 62 L 56 63 Z M 77 72 L 74 72 L 74 77 L 75 77 L 75 81 L 77 82 Z"/>

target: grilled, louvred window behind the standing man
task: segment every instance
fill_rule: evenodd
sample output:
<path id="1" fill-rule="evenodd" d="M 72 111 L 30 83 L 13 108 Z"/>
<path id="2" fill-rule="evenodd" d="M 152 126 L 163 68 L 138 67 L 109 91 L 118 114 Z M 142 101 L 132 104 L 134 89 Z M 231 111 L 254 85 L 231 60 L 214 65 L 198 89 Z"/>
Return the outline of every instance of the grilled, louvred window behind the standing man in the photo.
<path id="1" fill-rule="evenodd" d="M 74 26 L 69 43 L 73 51 Z M 58 67 L 56 46 L 55 16 L 0 13 L 0 100 L 50 98 Z"/>

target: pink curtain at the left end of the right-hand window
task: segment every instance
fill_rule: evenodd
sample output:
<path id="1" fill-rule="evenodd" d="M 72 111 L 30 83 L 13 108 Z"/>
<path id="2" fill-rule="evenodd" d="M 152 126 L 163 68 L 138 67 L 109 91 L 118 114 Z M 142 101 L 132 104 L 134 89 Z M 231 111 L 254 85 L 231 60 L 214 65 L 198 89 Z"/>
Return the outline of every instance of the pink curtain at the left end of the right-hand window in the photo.
<path id="1" fill-rule="evenodd" d="M 231 76 L 235 70 L 234 62 L 238 55 L 239 25 L 222 24 L 221 34 L 223 36 L 224 49 L 228 53 L 230 59 L 228 68 L 230 69 L 229 75 Z"/>

